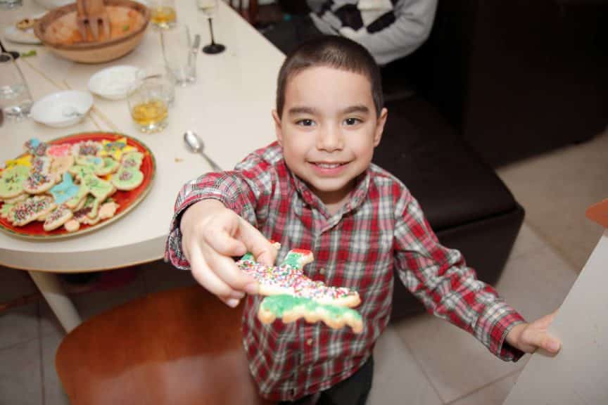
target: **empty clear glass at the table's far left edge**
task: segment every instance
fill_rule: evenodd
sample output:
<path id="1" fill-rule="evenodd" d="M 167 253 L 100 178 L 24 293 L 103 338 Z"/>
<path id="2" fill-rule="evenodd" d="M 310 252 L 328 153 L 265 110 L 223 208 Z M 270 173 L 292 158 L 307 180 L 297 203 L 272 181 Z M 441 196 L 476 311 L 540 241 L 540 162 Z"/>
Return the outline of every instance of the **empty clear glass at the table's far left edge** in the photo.
<path id="1" fill-rule="evenodd" d="M 10 53 L 0 53 L 0 108 L 14 120 L 28 117 L 32 109 L 30 89 Z"/>

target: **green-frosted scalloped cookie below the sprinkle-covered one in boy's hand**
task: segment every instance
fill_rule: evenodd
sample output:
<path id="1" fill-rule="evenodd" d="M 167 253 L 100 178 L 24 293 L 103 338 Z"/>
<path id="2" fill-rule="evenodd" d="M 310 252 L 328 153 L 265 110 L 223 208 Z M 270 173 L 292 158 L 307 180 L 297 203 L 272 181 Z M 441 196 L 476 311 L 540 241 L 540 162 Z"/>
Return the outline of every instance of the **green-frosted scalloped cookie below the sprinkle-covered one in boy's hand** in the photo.
<path id="1" fill-rule="evenodd" d="M 277 318 L 284 323 L 297 321 L 300 318 L 308 323 L 323 321 L 330 328 L 340 329 L 348 325 L 354 333 L 363 331 L 362 317 L 354 309 L 319 304 L 310 298 L 293 295 L 270 295 L 262 300 L 258 309 L 258 319 L 262 323 L 272 323 Z"/>

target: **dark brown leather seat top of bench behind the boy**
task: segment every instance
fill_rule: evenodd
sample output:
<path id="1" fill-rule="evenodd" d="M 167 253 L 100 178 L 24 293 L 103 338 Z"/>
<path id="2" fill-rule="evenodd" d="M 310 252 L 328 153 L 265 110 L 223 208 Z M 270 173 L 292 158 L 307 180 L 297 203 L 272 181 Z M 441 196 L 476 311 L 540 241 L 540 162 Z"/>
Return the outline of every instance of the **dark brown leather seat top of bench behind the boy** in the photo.
<path id="1" fill-rule="evenodd" d="M 517 208 L 493 169 L 428 102 L 414 96 L 386 108 L 388 120 L 374 163 L 403 181 L 435 231 Z"/>

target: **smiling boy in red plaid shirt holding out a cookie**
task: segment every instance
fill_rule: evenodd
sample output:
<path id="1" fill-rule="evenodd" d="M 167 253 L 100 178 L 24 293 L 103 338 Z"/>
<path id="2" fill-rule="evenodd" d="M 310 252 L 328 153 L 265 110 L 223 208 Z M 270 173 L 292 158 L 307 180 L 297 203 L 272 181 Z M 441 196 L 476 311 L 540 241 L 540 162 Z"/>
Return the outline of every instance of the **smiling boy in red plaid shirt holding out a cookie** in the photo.
<path id="1" fill-rule="evenodd" d="M 468 330 L 501 359 L 516 361 L 536 347 L 557 352 L 559 342 L 545 331 L 552 315 L 524 323 L 476 280 L 460 252 L 438 243 L 407 188 L 371 163 L 387 111 L 365 48 L 341 37 L 300 46 L 281 67 L 272 116 L 277 142 L 232 172 L 184 186 L 167 241 L 167 259 L 191 268 L 229 306 L 252 294 L 243 345 L 262 396 L 365 404 L 372 349 L 391 311 L 393 266 L 433 314 Z M 281 243 L 280 258 L 290 248 L 312 250 L 310 278 L 359 291 L 362 334 L 258 321 L 258 286 L 232 257 L 250 251 L 272 264 L 277 252 L 269 239 Z"/>

